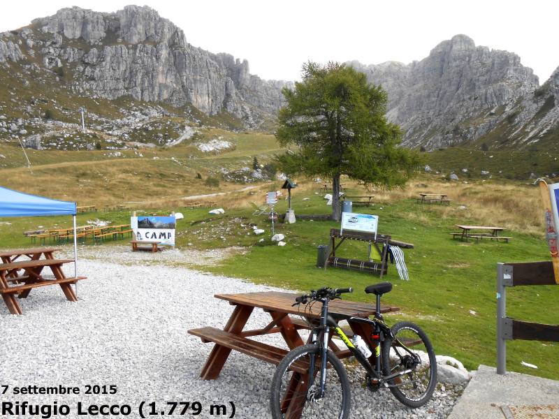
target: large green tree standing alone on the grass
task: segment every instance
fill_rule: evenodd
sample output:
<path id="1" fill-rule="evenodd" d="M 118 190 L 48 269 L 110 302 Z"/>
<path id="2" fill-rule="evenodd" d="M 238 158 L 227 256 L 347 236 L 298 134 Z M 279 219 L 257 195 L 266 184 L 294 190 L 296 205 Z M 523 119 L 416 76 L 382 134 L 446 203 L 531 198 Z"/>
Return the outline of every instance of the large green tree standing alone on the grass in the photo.
<path id="1" fill-rule="evenodd" d="M 332 179 L 332 219 L 340 221 L 340 176 L 365 187 L 404 186 L 421 164 L 419 153 L 397 147 L 402 130 L 384 117 L 387 94 L 344 64 L 303 64 L 303 81 L 283 89 L 279 145 L 296 145 L 276 156 L 279 170 Z"/>

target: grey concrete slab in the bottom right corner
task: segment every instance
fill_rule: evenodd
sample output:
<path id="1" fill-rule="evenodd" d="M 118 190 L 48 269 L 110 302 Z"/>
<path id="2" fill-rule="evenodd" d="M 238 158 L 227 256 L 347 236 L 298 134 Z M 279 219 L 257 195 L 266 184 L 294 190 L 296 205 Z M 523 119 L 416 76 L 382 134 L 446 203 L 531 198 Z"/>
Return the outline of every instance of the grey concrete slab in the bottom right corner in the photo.
<path id="1" fill-rule="evenodd" d="M 480 365 L 448 419 L 504 419 L 504 405 L 559 404 L 559 381 Z"/>

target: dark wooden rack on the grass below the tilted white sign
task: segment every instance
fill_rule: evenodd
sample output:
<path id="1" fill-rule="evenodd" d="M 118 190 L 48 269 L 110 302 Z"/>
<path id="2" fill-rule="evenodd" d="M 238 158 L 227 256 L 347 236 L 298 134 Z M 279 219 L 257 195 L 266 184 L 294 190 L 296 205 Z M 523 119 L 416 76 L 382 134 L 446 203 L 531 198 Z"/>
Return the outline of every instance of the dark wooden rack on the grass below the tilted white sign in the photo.
<path id="1" fill-rule="evenodd" d="M 340 242 L 335 244 L 335 240 L 340 239 Z M 347 258 L 338 258 L 336 256 L 336 250 L 340 247 L 345 240 L 358 240 L 360 242 L 369 242 L 369 257 L 370 257 L 370 247 L 375 246 L 379 255 L 381 255 L 380 263 L 370 262 L 370 260 L 356 260 Z M 391 236 L 385 234 L 375 233 L 363 233 L 360 231 L 347 231 L 340 234 L 340 229 L 331 228 L 330 229 L 330 244 L 328 244 L 328 258 L 326 258 L 326 263 L 324 263 L 324 270 L 328 266 L 341 267 L 342 269 L 356 270 L 363 272 L 370 272 L 372 274 L 380 274 L 382 278 L 383 274 L 386 274 L 388 270 L 387 255 L 389 251 L 389 242 L 391 242 Z M 379 244 L 383 245 L 382 251 L 379 249 Z"/>

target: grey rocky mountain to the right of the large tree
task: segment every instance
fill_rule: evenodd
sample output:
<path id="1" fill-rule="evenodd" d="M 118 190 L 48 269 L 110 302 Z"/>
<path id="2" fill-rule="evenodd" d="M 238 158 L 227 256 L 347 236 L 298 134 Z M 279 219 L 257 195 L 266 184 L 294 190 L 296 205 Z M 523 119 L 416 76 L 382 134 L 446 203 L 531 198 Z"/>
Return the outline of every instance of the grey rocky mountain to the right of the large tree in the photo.
<path id="1" fill-rule="evenodd" d="M 557 147 L 559 68 L 539 87 L 518 55 L 476 46 L 465 35 L 411 64 L 347 64 L 382 84 L 387 116 L 405 128 L 407 147 Z"/>

